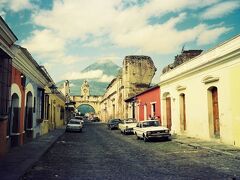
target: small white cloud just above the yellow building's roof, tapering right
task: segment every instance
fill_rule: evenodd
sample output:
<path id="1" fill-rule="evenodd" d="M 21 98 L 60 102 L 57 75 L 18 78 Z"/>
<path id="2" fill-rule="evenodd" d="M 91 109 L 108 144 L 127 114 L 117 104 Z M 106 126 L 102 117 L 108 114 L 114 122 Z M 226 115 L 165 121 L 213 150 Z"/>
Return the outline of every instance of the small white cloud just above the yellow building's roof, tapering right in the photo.
<path id="1" fill-rule="evenodd" d="M 231 28 L 225 28 L 225 27 L 219 27 L 219 28 L 214 28 L 214 29 L 208 29 L 200 33 L 198 39 L 197 39 L 197 44 L 198 45 L 206 45 L 210 44 L 212 42 L 215 42 L 219 36 L 222 34 L 230 31 Z"/>

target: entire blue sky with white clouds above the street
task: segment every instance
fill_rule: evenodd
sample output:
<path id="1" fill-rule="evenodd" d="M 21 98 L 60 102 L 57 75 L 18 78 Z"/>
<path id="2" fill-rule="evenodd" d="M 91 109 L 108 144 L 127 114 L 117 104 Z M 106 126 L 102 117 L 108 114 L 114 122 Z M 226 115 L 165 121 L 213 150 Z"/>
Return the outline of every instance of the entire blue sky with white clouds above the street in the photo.
<path id="1" fill-rule="evenodd" d="M 80 72 L 95 62 L 122 67 L 127 55 L 147 55 L 157 83 L 183 46 L 206 51 L 240 33 L 239 0 L 0 0 L 0 15 L 55 82 L 103 76 Z"/>

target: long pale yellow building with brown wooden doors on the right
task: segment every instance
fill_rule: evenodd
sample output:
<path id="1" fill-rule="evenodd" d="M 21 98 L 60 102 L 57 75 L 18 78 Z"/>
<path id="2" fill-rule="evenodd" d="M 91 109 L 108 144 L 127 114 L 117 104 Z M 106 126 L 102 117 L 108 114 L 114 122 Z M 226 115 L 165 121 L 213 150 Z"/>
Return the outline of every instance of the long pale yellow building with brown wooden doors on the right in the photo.
<path id="1" fill-rule="evenodd" d="M 160 76 L 172 133 L 240 146 L 240 35 Z"/>

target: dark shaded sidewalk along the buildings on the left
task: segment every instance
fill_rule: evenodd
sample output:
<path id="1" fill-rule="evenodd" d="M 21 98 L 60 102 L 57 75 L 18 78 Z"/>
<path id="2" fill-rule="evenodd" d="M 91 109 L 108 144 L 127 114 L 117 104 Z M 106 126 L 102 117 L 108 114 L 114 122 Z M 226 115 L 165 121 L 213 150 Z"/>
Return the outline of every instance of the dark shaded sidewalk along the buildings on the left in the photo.
<path id="1" fill-rule="evenodd" d="M 58 128 L 23 146 L 14 147 L 0 159 L 0 179 L 15 180 L 21 177 L 64 133 L 65 128 Z"/>

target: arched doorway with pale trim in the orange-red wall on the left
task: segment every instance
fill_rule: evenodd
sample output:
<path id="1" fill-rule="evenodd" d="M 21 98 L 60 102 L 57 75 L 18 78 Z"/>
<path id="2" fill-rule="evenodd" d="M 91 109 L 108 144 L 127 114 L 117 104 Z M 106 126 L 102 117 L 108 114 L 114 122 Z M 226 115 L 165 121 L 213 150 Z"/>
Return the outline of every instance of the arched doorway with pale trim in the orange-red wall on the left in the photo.
<path id="1" fill-rule="evenodd" d="M 9 135 L 11 146 L 19 144 L 19 126 L 20 126 L 20 97 L 17 93 L 11 96 Z"/>

